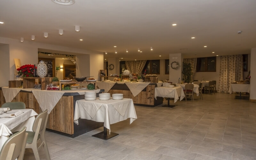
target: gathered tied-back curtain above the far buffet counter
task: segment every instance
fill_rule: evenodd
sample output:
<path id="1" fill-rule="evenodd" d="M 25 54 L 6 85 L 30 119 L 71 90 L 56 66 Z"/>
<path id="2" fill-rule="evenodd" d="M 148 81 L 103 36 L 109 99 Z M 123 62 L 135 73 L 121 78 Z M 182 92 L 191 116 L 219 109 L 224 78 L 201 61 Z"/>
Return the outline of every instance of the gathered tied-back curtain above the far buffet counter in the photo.
<path id="1" fill-rule="evenodd" d="M 146 62 L 147 62 L 147 60 L 125 61 L 125 66 L 130 71 L 131 74 L 140 75 Z"/>

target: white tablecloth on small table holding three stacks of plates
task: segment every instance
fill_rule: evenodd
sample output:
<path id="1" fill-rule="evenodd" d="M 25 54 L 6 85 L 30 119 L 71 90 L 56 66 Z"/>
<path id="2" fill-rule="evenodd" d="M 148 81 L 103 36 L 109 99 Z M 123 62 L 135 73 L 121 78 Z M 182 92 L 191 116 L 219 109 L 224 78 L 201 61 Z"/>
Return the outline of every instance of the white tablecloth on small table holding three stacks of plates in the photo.
<path id="1" fill-rule="evenodd" d="M 78 125 L 78 119 L 89 119 L 96 122 L 104 122 L 104 127 L 109 129 L 114 124 L 130 118 L 130 124 L 137 119 L 132 99 L 123 100 L 76 100 L 74 122 Z"/>

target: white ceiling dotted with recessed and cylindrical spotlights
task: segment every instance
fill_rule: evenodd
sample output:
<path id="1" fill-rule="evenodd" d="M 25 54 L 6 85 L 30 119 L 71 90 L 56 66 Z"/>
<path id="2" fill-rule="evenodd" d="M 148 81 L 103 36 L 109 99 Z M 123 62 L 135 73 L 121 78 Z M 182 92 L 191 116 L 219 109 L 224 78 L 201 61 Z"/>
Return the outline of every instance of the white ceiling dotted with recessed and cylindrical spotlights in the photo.
<path id="1" fill-rule="evenodd" d="M 31 41 L 35 35 L 40 43 L 107 51 L 106 59 L 247 54 L 256 47 L 255 0 L 76 0 L 73 5 L 1 0 L 0 21 L 1 37 Z M 79 33 L 75 25 L 80 26 Z M 58 34 L 59 29 L 64 35 Z M 242 34 L 237 34 L 239 30 Z"/>

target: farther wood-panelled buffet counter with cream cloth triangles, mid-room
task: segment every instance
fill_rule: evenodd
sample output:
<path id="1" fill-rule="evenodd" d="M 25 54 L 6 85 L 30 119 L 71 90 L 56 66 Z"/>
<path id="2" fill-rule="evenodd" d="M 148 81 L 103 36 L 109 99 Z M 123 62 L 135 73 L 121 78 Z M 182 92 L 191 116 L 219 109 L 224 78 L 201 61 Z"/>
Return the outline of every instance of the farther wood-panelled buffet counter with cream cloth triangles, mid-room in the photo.
<path id="1" fill-rule="evenodd" d="M 155 99 L 155 87 L 163 83 L 97 82 L 100 89 L 110 93 L 122 93 L 124 98 L 133 100 L 134 105 L 155 107 L 163 103 L 163 97 Z"/>

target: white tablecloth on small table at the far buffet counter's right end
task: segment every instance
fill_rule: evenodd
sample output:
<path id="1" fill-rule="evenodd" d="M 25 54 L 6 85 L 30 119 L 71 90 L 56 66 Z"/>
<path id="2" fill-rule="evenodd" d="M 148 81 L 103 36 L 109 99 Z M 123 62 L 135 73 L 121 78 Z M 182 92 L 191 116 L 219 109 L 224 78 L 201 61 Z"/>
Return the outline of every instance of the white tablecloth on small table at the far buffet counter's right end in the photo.
<path id="1" fill-rule="evenodd" d="M 185 94 L 183 92 L 182 87 L 176 86 L 174 88 L 168 88 L 168 87 L 156 87 L 155 88 L 155 99 L 156 97 L 168 97 L 168 98 L 174 98 L 174 103 L 177 102 L 177 100 L 180 97 L 180 100 L 182 100 L 185 97 Z"/>

